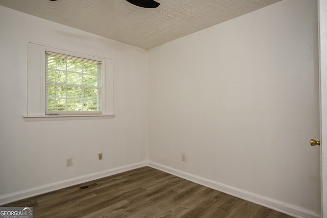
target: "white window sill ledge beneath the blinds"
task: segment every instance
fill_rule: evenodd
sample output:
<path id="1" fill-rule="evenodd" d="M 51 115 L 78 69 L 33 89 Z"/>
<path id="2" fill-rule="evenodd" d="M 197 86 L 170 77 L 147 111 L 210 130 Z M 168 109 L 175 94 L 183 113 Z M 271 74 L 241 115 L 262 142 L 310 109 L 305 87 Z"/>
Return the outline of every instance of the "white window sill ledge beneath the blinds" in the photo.
<path id="1" fill-rule="evenodd" d="M 81 114 L 81 115 L 24 115 L 25 121 L 76 120 L 76 119 L 112 119 L 113 114 Z"/>

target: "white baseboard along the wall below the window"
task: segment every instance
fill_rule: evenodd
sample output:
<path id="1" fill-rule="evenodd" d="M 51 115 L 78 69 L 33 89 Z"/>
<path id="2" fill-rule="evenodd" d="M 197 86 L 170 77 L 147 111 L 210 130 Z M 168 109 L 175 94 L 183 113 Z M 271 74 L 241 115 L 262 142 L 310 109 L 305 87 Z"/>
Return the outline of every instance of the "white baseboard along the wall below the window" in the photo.
<path id="1" fill-rule="evenodd" d="M 37 187 L 37 188 L 32 188 L 32 189 L 28 189 L 28 190 L 24 190 L 24 191 L 18 191 L 15 193 L 11 193 L 9 195 L 0 196 L 0 205 L 4 205 L 4 204 L 8 204 L 10 202 L 18 201 L 21 199 L 41 195 L 46 192 L 58 190 L 61 188 L 72 186 L 72 185 L 78 185 L 80 183 L 92 181 L 95 179 L 100 179 L 100 178 L 111 176 L 114 174 L 123 173 L 126 171 L 130 171 L 131 169 L 136 169 L 136 168 L 143 167 L 143 166 L 147 166 L 147 162 L 139 162 L 139 163 L 135 163 L 135 164 L 131 164 L 131 165 L 121 166 L 118 168 L 109 169 L 107 171 L 102 171 L 102 172 L 98 172 L 98 173 L 94 173 L 94 174 L 89 174 L 86 176 L 81 176 L 81 177 L 77 177 L 77 178 L 73 178 L 73 179 L 55 182 L 55 183 L 48 184 L 48 185 L 43 185 L 43 186 Z"/>

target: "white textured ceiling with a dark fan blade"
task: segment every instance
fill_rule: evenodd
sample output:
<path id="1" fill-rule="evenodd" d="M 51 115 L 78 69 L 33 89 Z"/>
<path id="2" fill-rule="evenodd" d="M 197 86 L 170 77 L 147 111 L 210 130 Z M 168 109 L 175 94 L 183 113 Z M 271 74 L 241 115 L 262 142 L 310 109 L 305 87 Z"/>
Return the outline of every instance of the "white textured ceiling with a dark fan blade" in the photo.
<path id="1" fill-rule="evenodd" d="M 281 0 L 0 0 L 0 5 L 127 44 L 151 49 Z"/>

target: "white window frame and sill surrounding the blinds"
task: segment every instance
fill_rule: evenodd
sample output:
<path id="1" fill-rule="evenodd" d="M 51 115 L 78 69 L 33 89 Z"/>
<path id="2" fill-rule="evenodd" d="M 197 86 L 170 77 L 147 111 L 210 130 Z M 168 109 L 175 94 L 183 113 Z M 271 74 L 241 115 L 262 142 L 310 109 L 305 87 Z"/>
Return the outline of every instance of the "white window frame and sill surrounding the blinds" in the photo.
<path id="1" fill-rule="evenodd" d="M 45 115 L 45 52 L 81 57 L 102 62 L 102 114 Z M 26 121 L 113 118 L 113 60 L 29 42 Z"/>

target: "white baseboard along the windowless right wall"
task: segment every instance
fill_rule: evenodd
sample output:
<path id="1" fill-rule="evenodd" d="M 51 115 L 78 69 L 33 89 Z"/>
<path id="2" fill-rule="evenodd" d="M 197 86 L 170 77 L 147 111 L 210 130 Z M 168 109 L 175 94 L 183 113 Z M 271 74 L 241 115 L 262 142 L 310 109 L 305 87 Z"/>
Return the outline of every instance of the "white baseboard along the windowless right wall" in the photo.
<path id="1" fill-rule="evenodd" d="M 246 201 L 253 202 L 255 204 L 259 204 L 265 207 L 268 207 L 270 209 L 286 213 L 288 215 L 299 217 L 299 218 L 320 218 L 321 216 L 319 214 L 316 214 L 312 211 L 304 210 L 299 207 L 295 207 L 292 205 L 287 205 L 283 202 L 275 201 L 273 199 L 269 199 L 263 196 L 255 195 L 254 193 L 250 193 L 235 187 L 231 187 L 228 185 L 224 185 L 212 180 L 208 180 L 202 177 L 198 177 L 189 173 L 185 173 L 182 171 L 179 171 L 178 169 L 174 169 L 168 166 L 164 166 L 155 162 L 148 162 L 148 166 L 159 169 L 160 171 L 164 171 L 166 173 L 178 176 L 180 178 L 198 183 L 200 185 L 204 185 L 209 188 L 216 189 L 218 191 L 227 193 L 228 195 L 235 196 L 241 199 L 244 199 Z"/>

